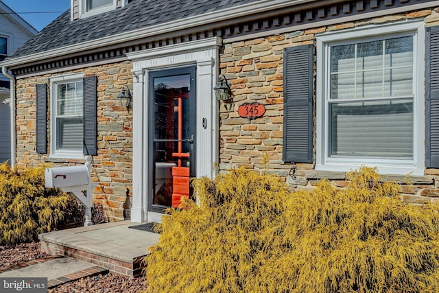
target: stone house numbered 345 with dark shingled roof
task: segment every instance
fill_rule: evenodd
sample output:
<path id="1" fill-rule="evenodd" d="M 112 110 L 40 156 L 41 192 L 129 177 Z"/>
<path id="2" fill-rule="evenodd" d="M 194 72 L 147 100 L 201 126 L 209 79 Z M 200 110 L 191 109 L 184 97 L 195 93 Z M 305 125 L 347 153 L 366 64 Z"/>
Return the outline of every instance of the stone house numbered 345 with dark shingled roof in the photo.
<path id="1" fill-rule="evenodd" d="M 189 177 L 239 166 L 298 189 L 377 166 L 407 202 L 439 196 L 439 1 L 71 7 L 0 63 L 16 86 L 14 163 L 93 156 L 112 220 L 130 194 L 132 221 L 159 221 Z M 233 99 L 215 99 L 219 74 Z"/>

